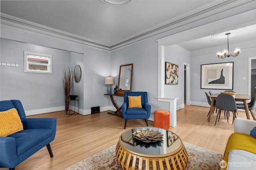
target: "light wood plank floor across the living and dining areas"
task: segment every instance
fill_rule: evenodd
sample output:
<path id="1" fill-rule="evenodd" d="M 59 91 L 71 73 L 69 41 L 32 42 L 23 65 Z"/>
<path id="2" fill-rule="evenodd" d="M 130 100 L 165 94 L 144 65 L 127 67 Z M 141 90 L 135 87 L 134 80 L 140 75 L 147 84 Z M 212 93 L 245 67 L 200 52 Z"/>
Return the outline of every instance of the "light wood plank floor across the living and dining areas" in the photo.
<path id="1" fill-rule="evenodd" d="M 214 126 L 216 113 L 208 122 L 208 111 L 209 107 L 185 106 L 177 111 L 177 126 L 170 127 L 169 130 L 183 141 L 223 154 L 228 137 L 234 131 L 232 117 L 230 123 L 221 117 Z M 106 111 L 86 116 L 69 116 L 64 111 L 58 111 L 29 117 L 57 118 L 56 137 L 50 143 L 54 157 L 50 158 L 44 147 L 16 166 L 16 170 L 63 170 L 116 144 L 125 131 L 124 119 Z M 238 111 L 238 117 L 246 119 L 245 112 Z M 129 119 L 126 130 L 142 126 L 146 126 L 143 119 Z M 149 121 L 149 126 L 153 127 L 154 122 Z"/>

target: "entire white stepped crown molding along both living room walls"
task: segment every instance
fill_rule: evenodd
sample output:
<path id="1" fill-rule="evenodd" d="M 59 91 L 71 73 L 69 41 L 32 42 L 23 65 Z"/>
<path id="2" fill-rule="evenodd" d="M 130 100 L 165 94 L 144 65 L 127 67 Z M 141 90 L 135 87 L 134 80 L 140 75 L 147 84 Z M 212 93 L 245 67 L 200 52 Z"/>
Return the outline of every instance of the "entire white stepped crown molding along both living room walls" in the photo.
<path id="1" fill-rule="evenodd" d="M 242 10 L 244 11 L 241 11 L 241 8 L 243 8 Z M 25 31 L 31 31 L 40 35 L 55 37 L 64 41 L 79 43 L 88 47 L 112 51 L 126 45 L 136 43 L 137 41 L 146 39 L 148 37 L 164 33 L 166 31 L 172 31 L 172 34 L 180 33 L 194 27 L 199 27 L 201 25 L 211 23 L 216 20 L 227 18 L 229 17 L 229 15 L 234 15 L 239 12 L 242 13 L 246 10 L 249 11 L 252 9 L 255 9 L 255 0 L 217 0 L 208 4 L 207 6 L 197 8 L 191 12 L 183 14 L 182 16 L 173 18 L 172 20 L 166 21 L 154 27 L 150 27 L 144 31 L 137 33 L 136 35 L 133 35 L 110 45 L 95 42 L 91 39 L 87 39 L 86 37 L 80 37 L 78 35 L 60 31 L 58 29 L 53 29 L 51 27 L 46 27 L 44 25 L 9 16 L 7 14 L 0 14 L 1 25 L 6 25 Z"/>

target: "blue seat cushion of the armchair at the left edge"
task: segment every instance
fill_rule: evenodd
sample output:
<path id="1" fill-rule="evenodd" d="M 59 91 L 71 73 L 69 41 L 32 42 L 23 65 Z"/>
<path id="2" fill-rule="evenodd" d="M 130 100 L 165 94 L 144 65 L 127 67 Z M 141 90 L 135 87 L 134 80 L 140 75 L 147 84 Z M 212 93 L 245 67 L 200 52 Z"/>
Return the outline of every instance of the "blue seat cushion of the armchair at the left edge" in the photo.
<path id="1" fill-rule="evenodd" d="M 52 129 L 26 129 L 9 135 L 15 138 L 17 155 L 21 155 L 53 134 Z"/>

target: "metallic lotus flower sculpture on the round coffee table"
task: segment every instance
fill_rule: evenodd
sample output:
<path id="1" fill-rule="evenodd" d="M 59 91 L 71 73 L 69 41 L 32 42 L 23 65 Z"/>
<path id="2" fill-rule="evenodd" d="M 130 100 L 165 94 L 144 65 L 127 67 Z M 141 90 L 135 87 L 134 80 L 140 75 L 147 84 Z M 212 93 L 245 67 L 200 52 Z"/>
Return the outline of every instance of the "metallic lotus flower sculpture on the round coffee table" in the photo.
<path id="1" fill-rule="evenodd" d="M 153 131 L 152 129 L 137 129 L 137 132 L 132 133 L 135 139 L 138 139 L 142 142 L 150 143 L 157 142 L 162 140 L 162 136 L 160 132 Z"/>

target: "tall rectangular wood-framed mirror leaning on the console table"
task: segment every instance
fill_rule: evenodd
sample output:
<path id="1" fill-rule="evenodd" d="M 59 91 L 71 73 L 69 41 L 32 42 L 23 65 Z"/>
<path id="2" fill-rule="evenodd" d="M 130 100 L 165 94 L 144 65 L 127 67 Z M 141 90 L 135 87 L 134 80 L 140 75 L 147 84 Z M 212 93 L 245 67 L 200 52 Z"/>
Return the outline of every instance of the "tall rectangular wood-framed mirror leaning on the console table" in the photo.
<path id="1" fill-rule="evenodd" d="M 132 89 L 132 67 L 133 64 L 120 65 L 117 94 L 124 94 Z"/>

